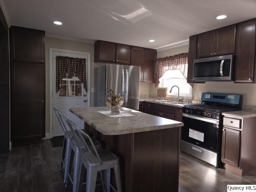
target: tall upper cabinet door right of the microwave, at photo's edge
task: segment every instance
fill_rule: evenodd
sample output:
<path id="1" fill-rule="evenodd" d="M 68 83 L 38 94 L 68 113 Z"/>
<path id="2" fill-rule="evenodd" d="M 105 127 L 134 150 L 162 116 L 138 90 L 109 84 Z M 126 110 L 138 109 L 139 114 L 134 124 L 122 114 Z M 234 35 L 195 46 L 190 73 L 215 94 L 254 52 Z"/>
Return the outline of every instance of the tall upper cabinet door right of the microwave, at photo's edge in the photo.
<path id="1" fill-rule="evenodd" d="M 256 20 L 239 23 L 236 33 L 235 82 L 254 81 Z"/>

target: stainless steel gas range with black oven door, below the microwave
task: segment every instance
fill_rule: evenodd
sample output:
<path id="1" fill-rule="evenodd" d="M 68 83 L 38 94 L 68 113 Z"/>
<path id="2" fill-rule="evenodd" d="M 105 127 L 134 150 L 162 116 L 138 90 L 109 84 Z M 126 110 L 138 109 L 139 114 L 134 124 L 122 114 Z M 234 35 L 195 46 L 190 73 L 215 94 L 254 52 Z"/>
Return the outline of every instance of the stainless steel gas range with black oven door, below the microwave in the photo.
<path id="1" fill-rule="evenodd" d="M 221 165 L 222 112 L 241 110 L 242 96 L 203 93 L 202 104 L 182 108 L 181 150 L 216 168 Z"/>

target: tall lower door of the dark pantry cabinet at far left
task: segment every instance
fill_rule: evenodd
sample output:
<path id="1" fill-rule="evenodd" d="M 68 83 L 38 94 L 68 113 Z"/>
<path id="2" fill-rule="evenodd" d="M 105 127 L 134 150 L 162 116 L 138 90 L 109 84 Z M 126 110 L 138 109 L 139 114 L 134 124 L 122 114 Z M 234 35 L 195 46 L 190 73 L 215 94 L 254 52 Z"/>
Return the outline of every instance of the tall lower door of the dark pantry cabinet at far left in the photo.
<path id="1" fill-rule="evenodd" d="M 45 66 L 11 62 L 11 140 L 45 137 Z"/>

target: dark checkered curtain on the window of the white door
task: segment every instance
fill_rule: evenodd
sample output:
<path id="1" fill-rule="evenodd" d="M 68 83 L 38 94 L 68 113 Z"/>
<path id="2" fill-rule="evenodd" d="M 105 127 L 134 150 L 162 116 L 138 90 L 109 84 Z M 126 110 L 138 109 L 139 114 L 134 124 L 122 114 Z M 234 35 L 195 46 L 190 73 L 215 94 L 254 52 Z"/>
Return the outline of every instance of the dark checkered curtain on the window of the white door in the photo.
<path id="1" fill-rule="evenodd" d="M 66 73 L 75 73 L 80 81 L 84 84 L 84 89 L 87 92 L 86 59 L 66 56 L 56 57 L 56 92 L 60 90 L 60 83 L 63 75 Z"/>

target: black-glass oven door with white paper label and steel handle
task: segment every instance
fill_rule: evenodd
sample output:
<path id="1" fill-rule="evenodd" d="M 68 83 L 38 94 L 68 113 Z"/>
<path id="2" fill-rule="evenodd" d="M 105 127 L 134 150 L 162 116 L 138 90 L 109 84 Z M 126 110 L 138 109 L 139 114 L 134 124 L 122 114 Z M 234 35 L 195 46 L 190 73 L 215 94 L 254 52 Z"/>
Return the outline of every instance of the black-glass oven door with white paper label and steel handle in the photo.
<path id="1" fill-rule="evenodd" d="M 218 152 L 219 120 L 183 114 L 182 140 Z"/>

